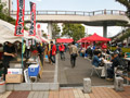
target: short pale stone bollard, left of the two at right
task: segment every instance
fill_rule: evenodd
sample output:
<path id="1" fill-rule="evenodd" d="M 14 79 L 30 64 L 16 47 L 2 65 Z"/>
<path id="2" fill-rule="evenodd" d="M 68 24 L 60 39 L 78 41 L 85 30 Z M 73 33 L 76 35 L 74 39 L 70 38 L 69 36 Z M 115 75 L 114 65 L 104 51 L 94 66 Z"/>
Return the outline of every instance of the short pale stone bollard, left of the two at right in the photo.
<path id="1" fill-rule="evenodd" d="M 90 78 L 83 78 L 83 93 L 90 94 L 92 91 L 91 87 L 91 79 Z"/>

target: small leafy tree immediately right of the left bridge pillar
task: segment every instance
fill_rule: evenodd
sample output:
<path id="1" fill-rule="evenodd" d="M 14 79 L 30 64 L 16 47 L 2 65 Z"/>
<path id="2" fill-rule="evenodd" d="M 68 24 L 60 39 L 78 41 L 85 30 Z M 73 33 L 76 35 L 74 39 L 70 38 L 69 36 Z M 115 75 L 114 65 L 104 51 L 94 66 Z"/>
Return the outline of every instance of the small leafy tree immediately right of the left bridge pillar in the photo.
<path id="1" fill-rule="evenodd" d="M 60 26 L 56 23 L 53 23 L 52 24 L 52 39 L 58 38 L 60 37 L 60 32 L 61 32 Z"/>

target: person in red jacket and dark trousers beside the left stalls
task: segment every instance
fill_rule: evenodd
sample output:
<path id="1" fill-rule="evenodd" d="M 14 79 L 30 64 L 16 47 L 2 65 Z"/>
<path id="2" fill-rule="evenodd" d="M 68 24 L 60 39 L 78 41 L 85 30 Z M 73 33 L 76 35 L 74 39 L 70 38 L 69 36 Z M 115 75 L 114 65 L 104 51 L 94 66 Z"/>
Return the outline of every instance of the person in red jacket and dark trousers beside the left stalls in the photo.
<path id="1" fill-rule="evenodd" d="M 51 41 L 50 59 L 52 63 L 55 63 L 56 46 Z"/>

